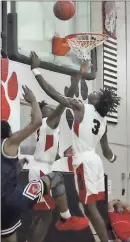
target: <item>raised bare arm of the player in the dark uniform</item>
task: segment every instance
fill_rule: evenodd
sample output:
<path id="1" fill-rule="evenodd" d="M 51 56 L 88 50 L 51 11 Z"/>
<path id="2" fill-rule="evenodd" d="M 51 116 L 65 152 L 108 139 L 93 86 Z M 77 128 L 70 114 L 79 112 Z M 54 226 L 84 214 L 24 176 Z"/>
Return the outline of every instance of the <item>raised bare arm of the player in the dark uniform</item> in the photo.
<path id="1" fill-rule="evenodd" d="M 23 91 L 25 101 L 32 107 L 32 117 L 31 122 L 24 129 L 15 132 L 4 142 L 4 152 L 10 156 L 15 156 L 20 143 L 42 125 L 42 114 L 33 92 L 27 86 L 23 86 Z"/>

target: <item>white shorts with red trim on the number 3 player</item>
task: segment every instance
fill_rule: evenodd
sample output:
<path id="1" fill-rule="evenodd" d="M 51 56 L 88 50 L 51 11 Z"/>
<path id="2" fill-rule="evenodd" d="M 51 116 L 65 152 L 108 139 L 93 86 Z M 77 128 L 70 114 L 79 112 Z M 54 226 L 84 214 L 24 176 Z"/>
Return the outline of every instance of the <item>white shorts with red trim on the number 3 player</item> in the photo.
<path id="1" fill-rule="evenodd" d="M 74 174 L 79 199 L 83 204 L 105 199 L 104 169 L 96 153 L 86 153 L 86 159 L 75 169 Z"/>

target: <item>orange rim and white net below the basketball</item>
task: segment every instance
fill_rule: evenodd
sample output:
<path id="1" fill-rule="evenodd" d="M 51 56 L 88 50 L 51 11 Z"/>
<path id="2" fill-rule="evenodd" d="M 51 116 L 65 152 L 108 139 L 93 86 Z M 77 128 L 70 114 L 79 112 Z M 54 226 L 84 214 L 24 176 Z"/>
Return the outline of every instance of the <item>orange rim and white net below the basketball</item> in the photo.
<path id="1" fill-rule="evenodd" d="M 71 50 L 84 61 L 91 60 L 91 50 L 106 41 L 108 36 L 99 33 L 77 33 L 65 37 Z"/>

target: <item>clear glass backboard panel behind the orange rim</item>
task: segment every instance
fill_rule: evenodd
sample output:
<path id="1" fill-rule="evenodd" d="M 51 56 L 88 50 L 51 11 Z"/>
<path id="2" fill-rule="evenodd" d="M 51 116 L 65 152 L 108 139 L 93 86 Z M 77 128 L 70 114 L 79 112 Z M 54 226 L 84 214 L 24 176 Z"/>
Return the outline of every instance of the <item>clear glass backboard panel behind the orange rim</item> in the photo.
<path id="1" fill-rule="evenodd" d="M 45 69 L 71 75 L 73 71 L 79 71 L 81 60 L 72 51 L 69 51 L 66 56 L 53 55 L 52 41 L 54 36 L 65 37 L 72 33 L 90 32 L 91 3 L 74 1 L 76 13 L 69 21 L 61 21 L 54 16 L 54 3 L 55 0 L 15 2 L 14 12 L 8 14 L 8 36 L 10 36 L 8 56 L 10 58 L 14 56 L 11 53 L 13 47 L 15 52 L 22 55 L 16 59 L 20 61 L 21 58 L 21 62 L 26 63 L 27 58 L 23 60 L 23 56 L 29 57 L 33 50 L 44 62 Z M 91 54 L 92 61 L 96 61 L 95 55 L 94 50 Z M 93 72 L 93 68 L 91 69 L 90 73 Z"/>

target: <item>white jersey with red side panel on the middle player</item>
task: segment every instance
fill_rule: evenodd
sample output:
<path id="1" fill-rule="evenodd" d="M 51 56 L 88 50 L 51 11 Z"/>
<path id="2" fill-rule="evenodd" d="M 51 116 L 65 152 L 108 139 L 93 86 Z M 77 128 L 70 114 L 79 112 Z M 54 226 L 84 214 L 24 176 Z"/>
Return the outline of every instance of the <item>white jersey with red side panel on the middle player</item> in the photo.
<path id="1" fill-rule="evenodd" d="M 51 129 L 46 121 L 47 118 L 43 118 L 42 126 L 38 131 L 34 159 L 39 162 L 52 163 L 58 151 L 59 128 Z"/>

